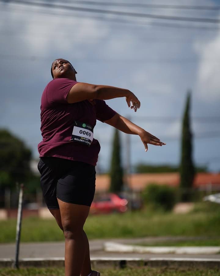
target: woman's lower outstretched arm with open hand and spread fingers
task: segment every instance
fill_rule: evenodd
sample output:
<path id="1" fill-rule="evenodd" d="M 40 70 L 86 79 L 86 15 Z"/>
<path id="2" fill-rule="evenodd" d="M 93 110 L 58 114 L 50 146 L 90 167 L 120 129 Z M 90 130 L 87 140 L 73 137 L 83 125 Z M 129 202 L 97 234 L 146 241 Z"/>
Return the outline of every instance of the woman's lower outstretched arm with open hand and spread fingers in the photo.
<path id="1" fill-rule="evenodd" d="M 166 145 L 166 143 L 161 142 L 159 138 L 145 131 L 143 128 L 140 128 L 138 125 L 135 125 L 130 120 L 118 113 L 116 113 L 110 120 L 105 121 L 105 123 L 112 125 L 124 133 L 139 135 L 145 146 L 145 151 L 148 150 L 147 144 L 152 144 L 155 146 Z"/>

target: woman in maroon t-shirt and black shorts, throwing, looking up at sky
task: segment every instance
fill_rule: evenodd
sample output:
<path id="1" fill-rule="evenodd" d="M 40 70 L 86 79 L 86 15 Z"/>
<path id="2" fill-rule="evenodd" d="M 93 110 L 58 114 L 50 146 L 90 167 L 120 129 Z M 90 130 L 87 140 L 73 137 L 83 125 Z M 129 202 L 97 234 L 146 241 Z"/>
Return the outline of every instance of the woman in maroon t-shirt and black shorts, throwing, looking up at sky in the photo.
<path id="1" fill-rule="evenodd" d="M 129 90 L 77 82 L 65 59 L 52 63 L 53 80 L 41 99 L 42 141 L 38 145 L 41 187 L 46 205 L 65 237 L 65 275 L 95 276 L 83 225 L 95 193 L 95 165 L 100 145 L 93 138 L 96 120 L 122 132 L 139 135 L 147 144 L 165 145 L 111 109 L 104 100 L 125 97 L 136 112 L 140 101 Z M 130 106 L 131 105 L 131 106 Z"/>

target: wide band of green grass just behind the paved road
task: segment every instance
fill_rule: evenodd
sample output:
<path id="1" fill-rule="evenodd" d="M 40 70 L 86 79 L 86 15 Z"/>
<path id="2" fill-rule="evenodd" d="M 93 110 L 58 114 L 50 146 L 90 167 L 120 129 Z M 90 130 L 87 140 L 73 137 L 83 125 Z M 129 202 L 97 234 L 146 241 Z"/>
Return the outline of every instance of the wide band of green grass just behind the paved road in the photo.
<path id="1" fill-rule="evenodd" d="M 0 229 L 0 243 L 15 241 L 15 219 L 0 221 Z M 213 245 L 219 241 L 220 205 L 211 202 L 197 203 L 195 209 L 188 214 L 163 213 L 145 208 L 124 214 L 90 215 L 84 229 L 89 239 L 206 236 L 210 238 L 210 243 L 208 241 L 204 243 Z M 43 220 L 37 217 L 23 219 L 21 242 L 60 240 L 64 240 L 63 233 L 55 220 Z"/>

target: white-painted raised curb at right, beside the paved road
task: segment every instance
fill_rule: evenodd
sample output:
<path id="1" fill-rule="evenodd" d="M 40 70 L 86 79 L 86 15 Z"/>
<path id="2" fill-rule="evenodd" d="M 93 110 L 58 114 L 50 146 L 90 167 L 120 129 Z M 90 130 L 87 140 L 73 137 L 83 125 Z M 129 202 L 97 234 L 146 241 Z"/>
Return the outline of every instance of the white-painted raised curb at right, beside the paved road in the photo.
<path id="1" fill-rule="evenodd" d="M 153 253 L 153 254 L 218 254 L 220 246 L 139 246 L 122 243 L 104 243 L 106 252 Z"/>

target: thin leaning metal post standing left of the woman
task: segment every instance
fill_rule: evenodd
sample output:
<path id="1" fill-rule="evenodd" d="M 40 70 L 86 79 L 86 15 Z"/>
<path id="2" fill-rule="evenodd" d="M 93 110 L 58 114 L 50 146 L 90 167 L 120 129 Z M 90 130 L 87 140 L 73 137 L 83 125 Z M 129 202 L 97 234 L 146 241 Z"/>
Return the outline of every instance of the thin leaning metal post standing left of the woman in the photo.
<path id="1" fill-rule="evenodd" d="M 23 194 L 24 194 L 24 184 L 21 184 L 20 191 L 19 191 L 18 213 L 17 213 L 15 262 L 13 265 L 15 268 L 19 268 L 18 259 L 19 259 L 20 231 L 21 231 L 21 220 L 22 220 L 22 209 L 23 209 Z"/>

